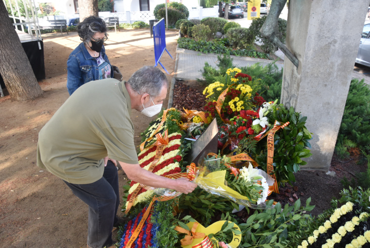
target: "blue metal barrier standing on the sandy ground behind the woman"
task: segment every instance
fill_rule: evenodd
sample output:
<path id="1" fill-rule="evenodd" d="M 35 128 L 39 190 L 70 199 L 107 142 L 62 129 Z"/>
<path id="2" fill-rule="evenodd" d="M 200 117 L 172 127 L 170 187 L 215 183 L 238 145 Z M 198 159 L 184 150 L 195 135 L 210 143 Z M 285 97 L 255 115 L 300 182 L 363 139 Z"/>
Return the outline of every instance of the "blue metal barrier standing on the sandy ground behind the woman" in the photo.
<path id="1" fill-rule="evenodd" d="M 160 58 L 162 57 L 164 51 L 166 51 L 173 60 L 172 56 L 169 54 L 167 48 L 165 47 L 165 29 L 164 29 L 164 18 L 160 19 L 159 22 L 157 22 L 153 26 L 153 39 L 154 39 L 154 59 L 155 59 L 155 65 L 157 66 L 158 63 L 161 65 L 161 67 L 164 69 L 164 71 L 167 72 L 167 70 L 164 68 L 164 66 L 160 63 Z"/>

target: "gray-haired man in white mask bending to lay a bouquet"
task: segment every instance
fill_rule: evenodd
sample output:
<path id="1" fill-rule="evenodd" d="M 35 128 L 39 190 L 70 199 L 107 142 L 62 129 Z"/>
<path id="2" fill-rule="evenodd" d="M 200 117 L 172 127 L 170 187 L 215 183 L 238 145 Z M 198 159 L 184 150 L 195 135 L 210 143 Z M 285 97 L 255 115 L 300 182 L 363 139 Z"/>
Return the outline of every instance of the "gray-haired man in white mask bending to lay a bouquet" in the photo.
<path id="1" fill-rule="evenodd" d="M 84 84 L 38 134 L 37 166 L 61 178 L 88 205 L 87 247 L 109 247 L 113 243 L 111 230 L 119 224 L 115 160 L 133 181 L 182 193 L 196 187 L 188 179 L 161 177 L 138 164 L 131 109 L 149 117 L 157 114 L 167 84 L 159 69 L 147 66 L 128 82 L 104 79 Z"/>

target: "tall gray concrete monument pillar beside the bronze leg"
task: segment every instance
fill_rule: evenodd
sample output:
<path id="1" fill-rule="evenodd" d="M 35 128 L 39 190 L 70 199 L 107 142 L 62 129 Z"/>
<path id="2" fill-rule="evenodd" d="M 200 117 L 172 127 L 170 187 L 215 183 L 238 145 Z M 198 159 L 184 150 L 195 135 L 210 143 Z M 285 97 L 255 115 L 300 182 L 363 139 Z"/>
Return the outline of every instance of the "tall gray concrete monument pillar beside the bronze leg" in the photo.
<path id="1" fill-rule="evenodd" d="M 307 116 L 312 156 L 302 169 L 330 166 L 369 0 L 289 1 L 281 103 Z"/>

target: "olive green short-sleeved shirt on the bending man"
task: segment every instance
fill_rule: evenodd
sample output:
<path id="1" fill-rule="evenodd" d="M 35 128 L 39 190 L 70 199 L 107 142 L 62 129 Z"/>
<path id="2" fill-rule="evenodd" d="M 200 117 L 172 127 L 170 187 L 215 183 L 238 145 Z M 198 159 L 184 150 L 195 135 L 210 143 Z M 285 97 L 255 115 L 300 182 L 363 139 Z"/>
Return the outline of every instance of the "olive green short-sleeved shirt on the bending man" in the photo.
<path id="1" fill-rule="evenodd" d="M 103 158 L 137 164 L 131 101 L 116 79 L 79 87 L 38 133 L 37 166 L 74 184 L 100 179 Z"/>

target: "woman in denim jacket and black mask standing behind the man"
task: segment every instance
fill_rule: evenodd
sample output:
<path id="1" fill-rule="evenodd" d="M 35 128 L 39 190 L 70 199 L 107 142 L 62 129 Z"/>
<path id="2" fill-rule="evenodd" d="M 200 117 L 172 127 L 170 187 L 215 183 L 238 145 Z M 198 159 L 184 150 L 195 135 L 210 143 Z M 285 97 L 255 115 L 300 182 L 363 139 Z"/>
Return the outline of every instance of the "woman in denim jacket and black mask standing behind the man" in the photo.
<path id="1" fill-rule="evenodd" d="M 98 17 L 88 17 L 77 26 L 81 44 L 69 55 L 67 61 L 67 89 L 71 95 L 78 87 L 93 80 L 115 78 L 122 80 L 118 68 L 109 63 L 103 43 L 108 39 L 105 22 Z"/>

